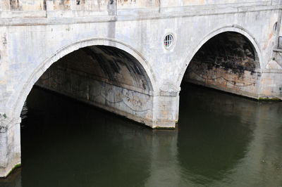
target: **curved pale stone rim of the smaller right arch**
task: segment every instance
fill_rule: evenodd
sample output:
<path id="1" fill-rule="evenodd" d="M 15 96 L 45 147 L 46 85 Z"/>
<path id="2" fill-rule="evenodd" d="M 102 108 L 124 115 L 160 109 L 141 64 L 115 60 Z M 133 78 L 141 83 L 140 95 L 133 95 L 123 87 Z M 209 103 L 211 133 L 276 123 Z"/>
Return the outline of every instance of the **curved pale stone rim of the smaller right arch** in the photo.
<path id="1" fill-rule="evenodd" d="M 202 39 L 202 41 L 200 42 L 200 44 L 195 48 L 194 51 L 192 51 L 191 55 L 188 56 L 188 58 L 185 59 L 185 63 L 183 65 L 183 67 L 181 68 L 181 70 L 183 70 L 178 79 L 177 79 L 177 86 L 180 87 L 180 84 L 183 80 L 184 74 L 186 72 L 186 69 L 188 67 L 188 65 L 190 64 L 190 61 L 192 60 L 192 58 L 195 56 L 195 54 L 197 53 L 197 51 L 200 50 L 200 48 L 206 44 L 207 41 L 209 41 L 209 39 L 212 39 L 212 37 L 215 37 L 217 34 L 221 34 L 223 32 L 238 32 L 239 34 L 243 34 L 244 37 L 246 37 L 250 43 L 252 44 L 252 46 L 255 49 L 255 60 L 256 63 L 258 61 L 259 64 L 259 68 L 257 68 L 258 72 L 262 72 L 262 53 L 261 50 L 259 49 L 259 44 L 257 42 L 257 40 L 255 39 L 255 37 L 252 36 L 252 34 L 250 34 L 250 32 L 248 32 L 247 30 L 245 30 L 243 27 L 239 26 L 239 25 L 228 25 L 225 27 L 220 27 L 219 29 L 216 29 L 212 32 L 210 32 L 209 34 L 207 34 L 204 39 Z"/>

